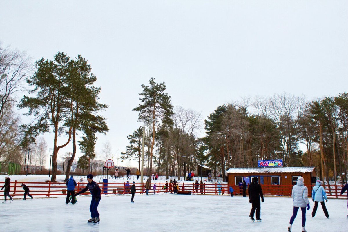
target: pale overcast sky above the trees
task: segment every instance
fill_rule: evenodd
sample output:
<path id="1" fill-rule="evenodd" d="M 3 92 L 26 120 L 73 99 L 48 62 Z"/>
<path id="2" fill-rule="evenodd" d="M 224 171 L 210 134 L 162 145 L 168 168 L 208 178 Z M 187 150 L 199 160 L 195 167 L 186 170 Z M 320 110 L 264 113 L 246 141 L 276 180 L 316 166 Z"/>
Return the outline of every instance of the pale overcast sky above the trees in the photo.
<path id="1" fill-rule="evenodd" d="M 113 153 L 125 151 L 127 135 L 141 125 L 132 109 L 150 77 L 166 83 L 174 106 L 199 111 L 203 119 L 248 95 L 286 91 L 313 99 L 347 91 L 347 1 L 1 0 L 0 5 L 3 45 L 25 50 L 33 61 L 53 59 L 57 51 L 88 59 L 102 87 L 100 101 L 110 105 L 103 112 L 110 131 L 98 136 L 97 152 L 105 141 Z M 45 138 L 52 147 L 53 135 Z M 69 144 L 58 159 L 71 150 Z"/>

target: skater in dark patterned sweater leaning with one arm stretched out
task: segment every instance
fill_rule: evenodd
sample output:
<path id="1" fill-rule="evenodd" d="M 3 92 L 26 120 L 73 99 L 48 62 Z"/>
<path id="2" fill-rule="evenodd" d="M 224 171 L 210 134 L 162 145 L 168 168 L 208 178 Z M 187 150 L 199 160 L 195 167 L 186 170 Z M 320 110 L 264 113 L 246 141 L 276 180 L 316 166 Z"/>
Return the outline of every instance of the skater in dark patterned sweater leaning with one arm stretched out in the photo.
<path id="1" fill-rule="evenodd" d="M 90 194 L 92 195 L 92 200 L 90 201 L 90 207 L 89 207 L 89 211 L 90 211 L 90 216 L 92 217 L 91 219 L 88 219 L 88 223 L 94 223 L 94 224 L 99 224 L 100 222 L 100 218 L 99 218 L 99 213 L 98 213 L 98 205 L 99 202 L 102 198 L 101 195 L 101 190 L 100 187 L 98 186 L 98 184 L 93 181 L 93 175 L 92 174 L 88 174 L 87 175 L 87 186 L 82 189 L 80 192 L 76 193 L 76 196 L 86 192 L 87 190 L 89 190 Z"/>

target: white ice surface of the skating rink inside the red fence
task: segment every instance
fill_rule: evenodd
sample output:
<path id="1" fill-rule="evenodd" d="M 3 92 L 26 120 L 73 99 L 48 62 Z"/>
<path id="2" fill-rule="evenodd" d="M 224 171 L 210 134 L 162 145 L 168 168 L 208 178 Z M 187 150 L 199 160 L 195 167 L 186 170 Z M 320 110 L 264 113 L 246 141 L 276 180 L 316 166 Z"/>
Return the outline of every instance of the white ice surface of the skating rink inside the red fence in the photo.
<path id="1" fill-rule="evenodd" d="M 261 203 L 261 223 L 250 221 L 248 198 L 229 195 L 130 195 L 103 196 L 98 206 L 101 222 L 88 224 L 90 197 L 78 197 L 75 205 L 62 198 L 14 200 L 0 204 L 0 231 L 287 231 L 292 199 L 266 197 Z M 327 219 L 319 205 L 315 218 L 307 211 L 306 229 L 346 231 L 347 199 L 329 199 Z M 293 231 L 301 231 L 301 213 Z"/>

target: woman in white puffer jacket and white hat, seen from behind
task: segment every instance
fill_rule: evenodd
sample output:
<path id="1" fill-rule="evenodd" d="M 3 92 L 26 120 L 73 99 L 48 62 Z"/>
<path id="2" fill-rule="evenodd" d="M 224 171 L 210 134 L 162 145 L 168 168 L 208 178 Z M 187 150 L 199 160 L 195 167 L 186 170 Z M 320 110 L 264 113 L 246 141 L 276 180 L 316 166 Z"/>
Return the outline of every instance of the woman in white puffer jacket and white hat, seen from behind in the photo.
<path id="1" fill-rule="evenodd" d="M 291 197 L 293 199 L 294 210 L 290 218 L 290 226 L 288 232 L 291 232 L 292 223 L 297 215 L 297 211 L 301 208 L 302 211 L 302 231 L 306 232 L 304 225 L 306 224 L 306 207 L 309 210 L 308 188 L 304 186 L 303 177 L 297 178 L 297 184 L 292 188 Z"/>

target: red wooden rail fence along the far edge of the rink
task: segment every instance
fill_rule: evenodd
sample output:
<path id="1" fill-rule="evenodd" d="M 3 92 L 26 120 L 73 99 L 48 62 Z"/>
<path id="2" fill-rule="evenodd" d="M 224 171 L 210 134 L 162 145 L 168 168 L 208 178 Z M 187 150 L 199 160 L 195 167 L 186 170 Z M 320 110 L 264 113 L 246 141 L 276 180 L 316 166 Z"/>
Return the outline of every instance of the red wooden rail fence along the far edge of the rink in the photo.
<path id="1" fill-rule="evenodd" d="M 21 184 L 24 183 L 29 187 L 30 194 L 36 197 L 57 197 L 66 195 L 66 185 L 65 183 L 56 183 L 56 182 L 12 182 L 11 183 L 11 196 L 23 196 L 24 190 Z M 4 182 L 0 182 L 0 186 L 3 186 Z M 77 183 L 75 191 L 79 191 L 83 189 L 87 183 Z M 107 186 L 106 186 L 107 185 Z M 182 190 L 182 183 L 179 183 L 179 190 Z M 210 194 L 210 195 L 222 195 L 222 194 L 230 194 L 229 186 L 227 184 L 221 184 L 221 188 L 217 183 L 204 183 L 203 189 L 200 189 L 200 186 L 196 189 L 194 182 L 192 183 L 184 183 L 185 191 L 191 191 L 192 194 Z M 102 194 L 128 194 L 130 193 L 130 186 L 132 184 L 129 183 L 129 186 L 126 186 L 126 183 L 108 183 L 103 184 L 99 183 L 99 186 L 102 189 Z M 136 193 L 143 194 L 145 192 L 145 183 L 142 185 L 140 183 L 136 183 Z M 292 185 L 261 185 L 262 191 L 264 195 L 281 195 L 281 196 L 291 196 Z M 164 183 L 156 183 L 156 193 L 169 193 L 173 192 L 173 185 L 168 184 L 169 189 L 165 189 Z M 234 194 L 242 195 L 242 189 L 239 186 L 232 186 L 235 190 Z M 313 190 L 313 186 L 308 187 L 308 196 L 311 196 L 311 192 Z M 346 194 L 340 196 L 341 189 L 343 185 L 324 185 L 323 186 L 328 198 L 346 198 Z M 0 192 L 0 196 L 3 196 L 3 192 Z M 151 184 L 151 189 L 149 193 L 153 194 L 153 183 Z M 248 194 L 248 190 L 246 190 L 246 194 Z M 89 195 L 89 191 L 84 193 L 83 195 Z"/>

